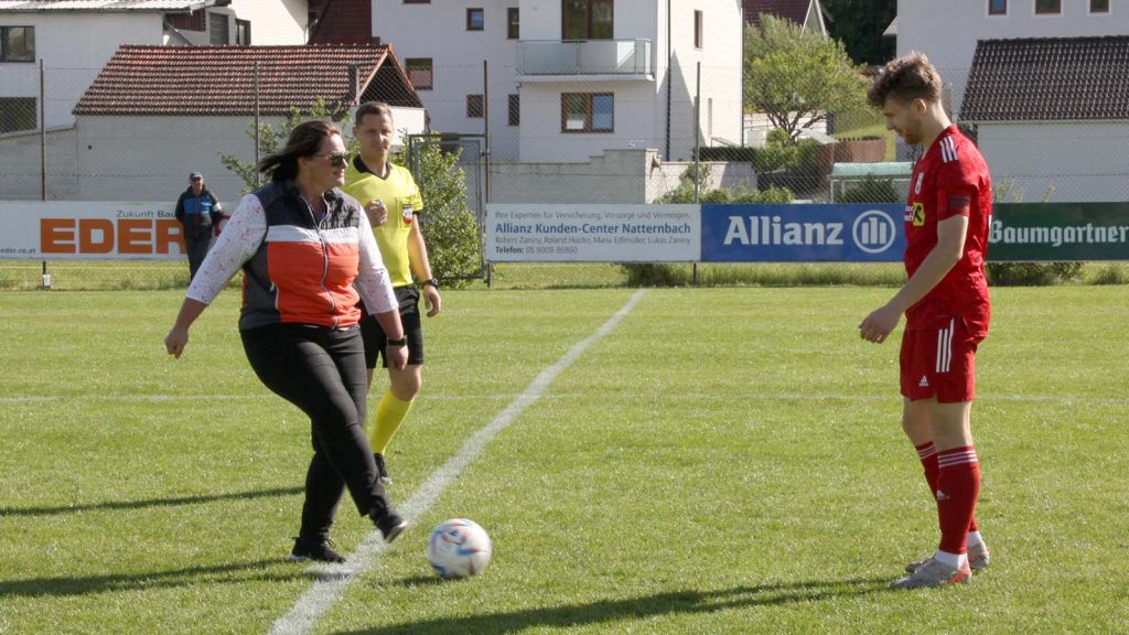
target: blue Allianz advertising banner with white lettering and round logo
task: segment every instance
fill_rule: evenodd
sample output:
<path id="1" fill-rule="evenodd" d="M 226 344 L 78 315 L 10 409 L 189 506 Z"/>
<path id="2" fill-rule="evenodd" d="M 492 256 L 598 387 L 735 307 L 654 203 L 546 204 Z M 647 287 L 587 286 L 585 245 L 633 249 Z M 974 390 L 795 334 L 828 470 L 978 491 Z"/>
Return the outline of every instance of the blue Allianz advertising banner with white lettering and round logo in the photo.
<path id="1" fill-rule="evenodd" d="M 703 205 L 703 262 L 891 262 L 903 203 Z"/>

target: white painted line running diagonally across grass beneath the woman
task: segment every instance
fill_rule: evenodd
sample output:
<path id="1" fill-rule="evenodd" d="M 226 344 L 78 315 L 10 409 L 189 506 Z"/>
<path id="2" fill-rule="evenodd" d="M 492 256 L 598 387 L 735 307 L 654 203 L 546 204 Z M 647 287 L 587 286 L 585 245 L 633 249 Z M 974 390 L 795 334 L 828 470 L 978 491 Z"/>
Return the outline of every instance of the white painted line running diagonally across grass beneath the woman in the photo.
<path id="1" fill-rule="evenodd" d="M 576 362 L 589 346 L 610 333 L 634 308 L 645 294 L 646 290 L 644 289 L 636 292 L 631 296 L 631 299 L 615 312 L 607 322 L 604 322 L 594 333 L 574 345 L 553 365 L 541 371 L 522 394 L 517 395 L 485 427 L 471 435 L 463 443 L 463 446 L 458 449 L 458 452 L 436 470 L 406 503 L 399 505 L 399 512 L 410 522 L 427 512 L 447 486 L 458 478 L 458 475 L 482 453 L 495 435 L 506 429 L 523 410 L 536 401 L 557 375 Z M 271 628 L 271 635 L 305 635 L 309 633 L 322 616 L 325 615 L 325 611 L 341 598 L 345 589 L 371 566 L 384 550 L 384 539 L 378 531 L 374 530 L 361 541 L 357 550 L 349 556 L 348 562 L 343 565 L 312 567 L 312 571 L 320 574 L 318 580 L 314 582 L 309 591 L 306 591 L 298 599 L 287 615 L 274 623 L 274 626 Z"/>

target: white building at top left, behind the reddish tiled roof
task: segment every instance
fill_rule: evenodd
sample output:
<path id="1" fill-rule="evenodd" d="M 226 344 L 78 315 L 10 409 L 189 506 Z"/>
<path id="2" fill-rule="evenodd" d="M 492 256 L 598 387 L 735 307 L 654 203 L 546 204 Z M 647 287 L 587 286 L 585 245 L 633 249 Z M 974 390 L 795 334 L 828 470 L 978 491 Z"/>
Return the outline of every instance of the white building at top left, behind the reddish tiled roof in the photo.
<path id="1" fill-rule="evenodd" d="M 0 0 L 0 133 L 47 128 L 122 44 L 305 44 L 306 0 Z"/>

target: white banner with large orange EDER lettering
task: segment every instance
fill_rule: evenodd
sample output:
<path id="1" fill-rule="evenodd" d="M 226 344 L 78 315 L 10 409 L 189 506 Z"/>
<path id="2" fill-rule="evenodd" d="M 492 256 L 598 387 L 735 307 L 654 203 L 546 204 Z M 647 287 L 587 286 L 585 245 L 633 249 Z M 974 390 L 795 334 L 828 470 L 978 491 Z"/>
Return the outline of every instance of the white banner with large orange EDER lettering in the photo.
<path id="1" fill-rule="evenodd" d="M 2 201 L 0 258 L 183 259 L 175 207 L 175 202 Z"/>

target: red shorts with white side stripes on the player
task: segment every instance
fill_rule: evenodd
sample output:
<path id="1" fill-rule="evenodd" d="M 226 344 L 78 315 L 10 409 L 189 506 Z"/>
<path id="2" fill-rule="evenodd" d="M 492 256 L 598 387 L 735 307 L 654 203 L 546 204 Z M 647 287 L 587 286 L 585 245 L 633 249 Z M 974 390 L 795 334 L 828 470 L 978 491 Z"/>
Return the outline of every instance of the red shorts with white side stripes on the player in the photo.
<path id="1" fill-rule="evenodd" d="M 907 329 L 900 356 L 902 394 L 911 401 L 936 395 L 942 403 L 972 401 L 977 394 L 977 346 L 960 318 L 938 328 Z"/>

